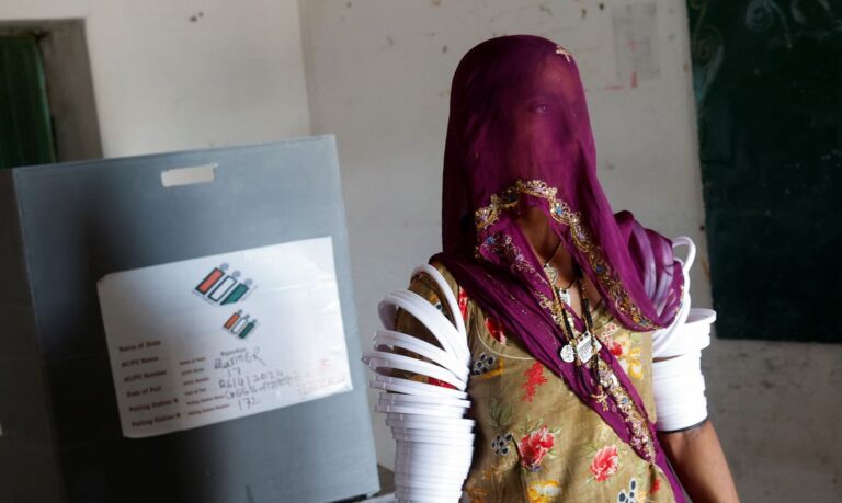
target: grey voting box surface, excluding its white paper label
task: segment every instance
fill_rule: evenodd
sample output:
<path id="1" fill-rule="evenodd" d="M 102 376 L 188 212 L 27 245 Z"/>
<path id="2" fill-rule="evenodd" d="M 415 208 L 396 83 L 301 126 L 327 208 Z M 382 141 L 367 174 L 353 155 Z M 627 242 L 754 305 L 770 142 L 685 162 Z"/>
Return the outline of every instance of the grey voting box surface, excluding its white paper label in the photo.
<path id="1" fill-rule="evenodd" d="M 164 170 L 208 164 L 213 182 L 161 183 Z M 322 236 L 353 391 L 124 437 L 98 279 Z M 0 171 L 0 502 L 328 502 L 378 490 L 332 136 Z"/>

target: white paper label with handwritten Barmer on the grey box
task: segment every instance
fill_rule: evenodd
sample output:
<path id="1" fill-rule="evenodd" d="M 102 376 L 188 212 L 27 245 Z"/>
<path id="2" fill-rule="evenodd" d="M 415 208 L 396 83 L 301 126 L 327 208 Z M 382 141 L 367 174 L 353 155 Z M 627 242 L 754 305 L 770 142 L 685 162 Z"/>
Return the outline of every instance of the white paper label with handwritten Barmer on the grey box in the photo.
<path id="1" fill-rule="evenodd" d="M 98 283 L 123 435 L 162 435 L 351 390 L 329 237 Z"/>

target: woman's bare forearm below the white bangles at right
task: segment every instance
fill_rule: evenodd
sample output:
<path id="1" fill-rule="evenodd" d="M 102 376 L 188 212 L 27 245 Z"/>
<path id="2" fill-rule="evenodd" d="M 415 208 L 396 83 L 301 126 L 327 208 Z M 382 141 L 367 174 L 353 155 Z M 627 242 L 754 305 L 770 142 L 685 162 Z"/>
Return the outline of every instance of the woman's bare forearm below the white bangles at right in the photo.
<path id="1" fill-rule="evenodd" d="M 731 471 L 713 423 L 676 433 L 659 433 L 667 457 L 694 503 L 739 502 Z"/>

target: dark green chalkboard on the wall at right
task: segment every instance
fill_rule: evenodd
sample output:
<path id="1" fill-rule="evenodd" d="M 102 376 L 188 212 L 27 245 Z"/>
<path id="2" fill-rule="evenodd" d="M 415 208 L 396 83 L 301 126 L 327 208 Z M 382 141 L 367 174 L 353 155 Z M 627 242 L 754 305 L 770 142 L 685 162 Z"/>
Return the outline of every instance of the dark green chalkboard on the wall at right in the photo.
<path id="1" fill-rule="evenodd" d="M 842 342 L 842 1 L 687 7 L 717 333 Z"/>

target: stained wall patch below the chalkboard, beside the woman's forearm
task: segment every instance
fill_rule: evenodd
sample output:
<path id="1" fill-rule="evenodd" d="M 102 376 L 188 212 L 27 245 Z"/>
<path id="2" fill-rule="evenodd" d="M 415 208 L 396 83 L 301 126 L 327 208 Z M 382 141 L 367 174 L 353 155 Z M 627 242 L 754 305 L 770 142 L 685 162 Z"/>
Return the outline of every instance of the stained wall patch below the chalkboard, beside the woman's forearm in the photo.
<path id="1" fill-rule="evenodd" d="M 743 502 L 842 502 L 842 345 L 715 339 L 708 409 Z"/>

